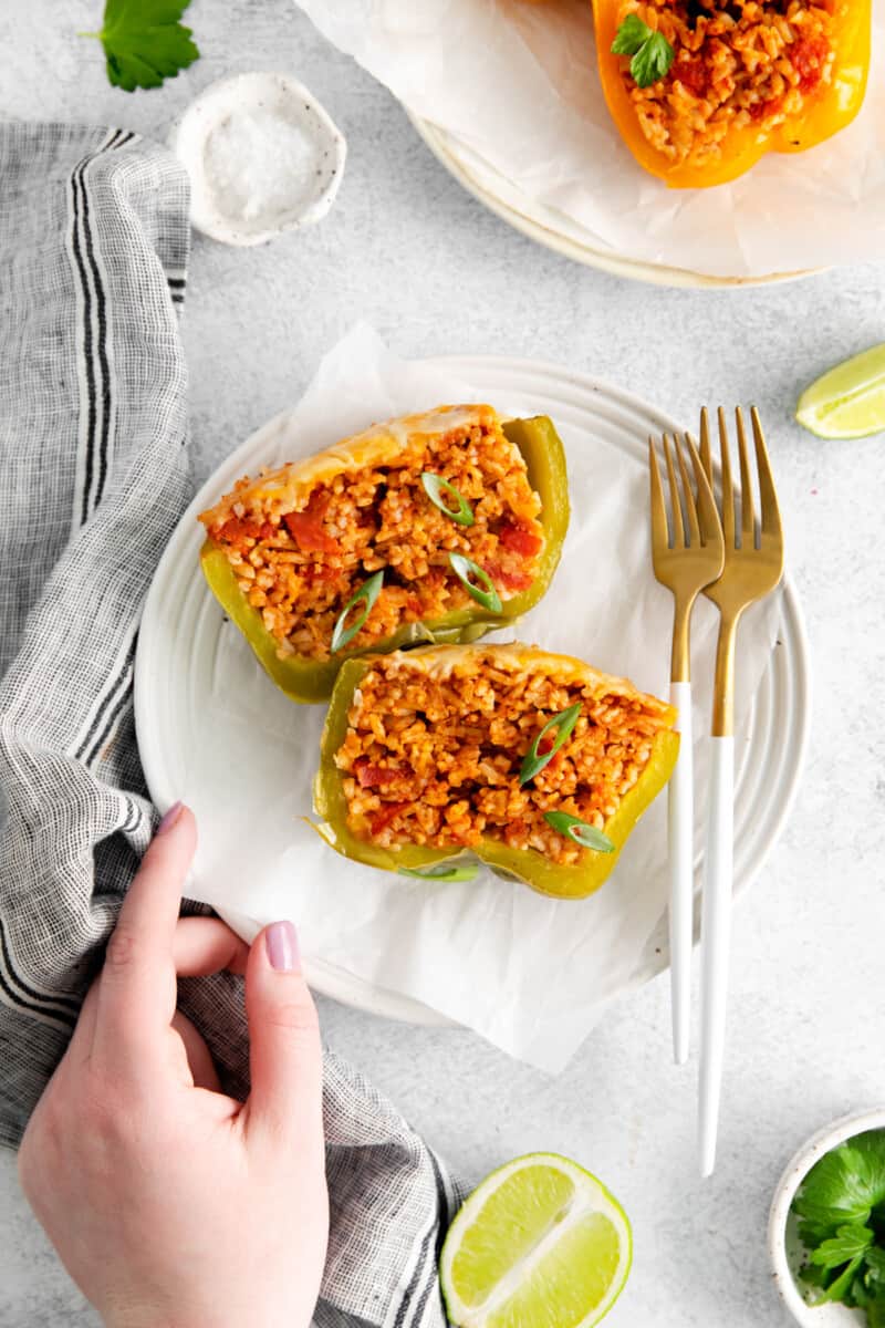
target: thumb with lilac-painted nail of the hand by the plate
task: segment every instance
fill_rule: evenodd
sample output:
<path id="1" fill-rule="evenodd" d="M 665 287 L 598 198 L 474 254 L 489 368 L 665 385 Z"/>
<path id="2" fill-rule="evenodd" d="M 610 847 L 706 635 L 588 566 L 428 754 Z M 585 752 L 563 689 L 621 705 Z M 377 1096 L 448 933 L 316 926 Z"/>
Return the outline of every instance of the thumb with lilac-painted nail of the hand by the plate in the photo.
<path id="1" fill-rule="evenodd" d="M 322 1143 L 320 1024 L 301 972 L 297 932 L 275 922 L 252 942 L 245 968 L 249 1021 L 248 1131 L 275 1142 Z"/>

